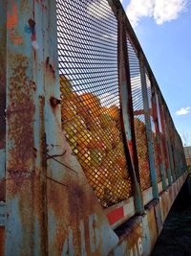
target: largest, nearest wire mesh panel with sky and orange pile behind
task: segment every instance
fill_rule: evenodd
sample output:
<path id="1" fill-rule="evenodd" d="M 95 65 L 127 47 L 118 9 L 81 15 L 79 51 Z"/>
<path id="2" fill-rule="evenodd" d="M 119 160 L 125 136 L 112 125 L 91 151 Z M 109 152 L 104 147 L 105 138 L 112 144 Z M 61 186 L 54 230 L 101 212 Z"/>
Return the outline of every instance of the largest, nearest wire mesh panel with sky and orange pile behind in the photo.
<path id="1" fill-rule="evenodd" d="M 132 195 L 120 127 L 117 19 L 107 0 L 56 5 L 62 128 L 107 207 Z"/>

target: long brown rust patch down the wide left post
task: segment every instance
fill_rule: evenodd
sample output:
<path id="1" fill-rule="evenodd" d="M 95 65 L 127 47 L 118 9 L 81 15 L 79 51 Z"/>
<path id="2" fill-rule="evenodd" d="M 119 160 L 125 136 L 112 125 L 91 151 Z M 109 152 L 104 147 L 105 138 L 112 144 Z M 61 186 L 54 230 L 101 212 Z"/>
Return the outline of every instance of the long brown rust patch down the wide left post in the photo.
<path id="1" fill-rule="evenodd" d="M 10 105 L 7 109 L 9 149 L 8 172 L 17 184 L 32 175 L 34 103 L 31 81 L 27 76 L 28 59 L 11 56 L 12 74 L 9 79 Z"/>

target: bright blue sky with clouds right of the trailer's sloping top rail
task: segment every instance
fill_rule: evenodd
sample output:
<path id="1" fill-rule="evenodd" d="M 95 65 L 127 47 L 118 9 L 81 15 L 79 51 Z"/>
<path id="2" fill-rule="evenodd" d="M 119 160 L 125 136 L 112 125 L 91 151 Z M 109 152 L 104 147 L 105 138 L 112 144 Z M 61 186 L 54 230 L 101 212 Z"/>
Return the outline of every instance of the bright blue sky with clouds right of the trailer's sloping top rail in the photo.
<path id="1" fill-rule="evenodd" d="M 191 145 L 190 0 L 121 0 L 182 141 Z"/>

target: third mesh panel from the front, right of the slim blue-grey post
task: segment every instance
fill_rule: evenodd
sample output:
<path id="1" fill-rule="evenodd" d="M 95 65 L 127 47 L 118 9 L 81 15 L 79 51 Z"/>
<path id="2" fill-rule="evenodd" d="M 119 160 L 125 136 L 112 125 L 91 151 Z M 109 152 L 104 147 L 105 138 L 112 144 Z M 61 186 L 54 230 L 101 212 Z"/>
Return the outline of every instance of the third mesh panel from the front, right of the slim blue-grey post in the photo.
<path id="1" fill-rule="evenodd" d="M 154 144 L 155 167 L 156 167 L 156 172 L 157 172 L 158 182 L 159 182 L 161 180 L 161 175 L 160 175 L 160 169 L 159 169 L 159 165 L 160 165 L 160 147 L 159 147 L 159 141 L 157 139 L 157 130 L 158 130 L 157 105 L 153 104 L 152 87 L 151 87 L 152 85 L 151 85 L 151 81 L 150 81 L 147 73 L 145 73 L 145 77 L 146 77 L 149 109 L 150 109 L 150 121 L 151 121 L 151 128 L 152 128 L 152 138 L 153 138 L 153 144 Z"/>

